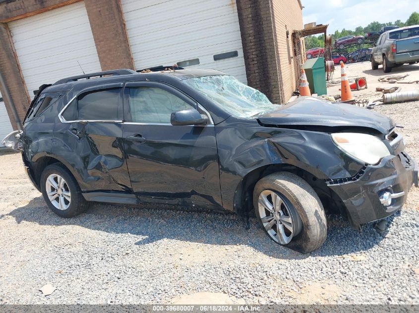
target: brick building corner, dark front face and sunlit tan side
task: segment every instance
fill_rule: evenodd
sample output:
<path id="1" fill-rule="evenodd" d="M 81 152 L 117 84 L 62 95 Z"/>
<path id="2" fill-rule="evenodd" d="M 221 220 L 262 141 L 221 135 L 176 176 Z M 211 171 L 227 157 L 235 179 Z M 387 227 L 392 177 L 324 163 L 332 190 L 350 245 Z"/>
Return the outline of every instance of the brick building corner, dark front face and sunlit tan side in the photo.
<path id="1" fill-rule="evenodd" d="M 292 37 L 303 28 L 299 0 L 237 0 L 237 8 L 249 86 L 287 102 L 299 77 Z"/>

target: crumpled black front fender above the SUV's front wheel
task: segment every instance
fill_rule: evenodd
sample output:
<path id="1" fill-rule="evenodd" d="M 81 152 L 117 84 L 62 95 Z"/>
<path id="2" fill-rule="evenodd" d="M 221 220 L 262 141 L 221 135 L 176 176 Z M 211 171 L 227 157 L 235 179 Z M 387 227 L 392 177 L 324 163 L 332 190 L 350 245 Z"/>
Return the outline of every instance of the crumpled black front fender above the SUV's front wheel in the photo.
<path id="1" fill-rule="evenodd" d="M 232 211 L 241 179 L 255 169 L 288 164 L 318 179 L 338 179 L 356 175 L 363 166 L 327 133 L 261 127 L 254 120 L 229 118 L 216 126 L 216 136 L 223 205 Z"/>

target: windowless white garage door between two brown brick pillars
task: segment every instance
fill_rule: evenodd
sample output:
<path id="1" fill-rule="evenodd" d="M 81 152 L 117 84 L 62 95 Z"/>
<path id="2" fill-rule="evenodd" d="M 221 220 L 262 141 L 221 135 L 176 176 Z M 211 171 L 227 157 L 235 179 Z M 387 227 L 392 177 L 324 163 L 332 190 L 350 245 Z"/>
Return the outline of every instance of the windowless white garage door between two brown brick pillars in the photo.
<path id="1" fill-rule="evenodd" d="M 101 70 L 84 1 L 8 23 L 30 96 L 42 84 Z"/>

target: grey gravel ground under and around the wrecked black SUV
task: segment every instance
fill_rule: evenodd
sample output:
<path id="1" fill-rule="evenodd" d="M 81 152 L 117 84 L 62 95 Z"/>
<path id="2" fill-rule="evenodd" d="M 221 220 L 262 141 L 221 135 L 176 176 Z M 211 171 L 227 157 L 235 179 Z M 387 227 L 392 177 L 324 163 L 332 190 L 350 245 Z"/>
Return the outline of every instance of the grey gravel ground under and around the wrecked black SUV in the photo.
<path id="1" fill-rule="evenodd" d="M 374 110 L 419 160 L 419 101 Z M 234 215 L 94 204 L 61 219 L 20 154 L 3 154 L 0 304 L 419 304 L 418 211 L 413 187 L 383 234 L 329 217 L 325 244 L 301 255 Z M 57 289 L 44 296 L 47 283 Z"/>

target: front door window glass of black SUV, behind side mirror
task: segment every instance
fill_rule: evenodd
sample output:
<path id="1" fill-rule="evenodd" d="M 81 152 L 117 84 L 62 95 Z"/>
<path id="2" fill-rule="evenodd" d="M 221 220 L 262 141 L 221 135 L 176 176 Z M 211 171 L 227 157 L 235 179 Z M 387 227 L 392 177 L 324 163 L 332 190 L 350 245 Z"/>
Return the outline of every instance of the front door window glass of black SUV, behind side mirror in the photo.
<path id="1" fill-rule="evenodd" d="M 192 106 L 164 89 L 137 87 L 129 89 L 129 108 L 132 122 L 170 123 L 173 112 Z"/>

